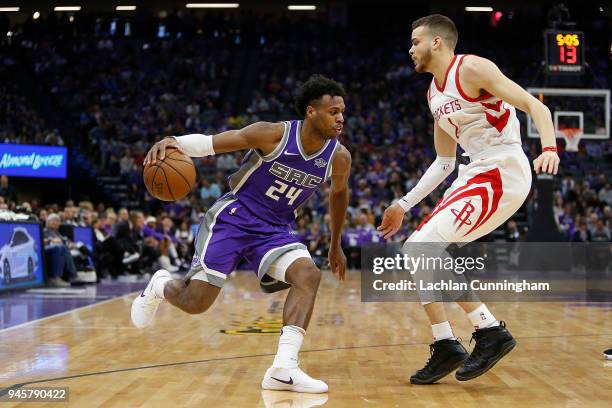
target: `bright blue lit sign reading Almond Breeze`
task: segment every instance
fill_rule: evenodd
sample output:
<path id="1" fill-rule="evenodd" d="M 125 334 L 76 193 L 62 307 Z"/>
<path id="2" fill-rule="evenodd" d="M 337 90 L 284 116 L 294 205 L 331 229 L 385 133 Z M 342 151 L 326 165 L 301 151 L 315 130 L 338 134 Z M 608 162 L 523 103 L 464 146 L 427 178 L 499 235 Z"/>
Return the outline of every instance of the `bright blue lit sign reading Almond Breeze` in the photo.
<path id="1" fill-rule="evenodd" d="M 65 147 L 0 143 L 0 174 L 66 178 L 67 163 Z"/>

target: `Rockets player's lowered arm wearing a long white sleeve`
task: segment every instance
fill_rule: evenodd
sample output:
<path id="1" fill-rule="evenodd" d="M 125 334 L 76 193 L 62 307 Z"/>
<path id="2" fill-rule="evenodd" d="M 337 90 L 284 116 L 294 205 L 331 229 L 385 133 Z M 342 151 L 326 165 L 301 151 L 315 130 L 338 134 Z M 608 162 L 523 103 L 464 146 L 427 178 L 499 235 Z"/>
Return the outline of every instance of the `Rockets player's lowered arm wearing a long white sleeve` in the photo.
<path id="1" fill-rule="evenodd" d="M 455 170 L 457 142 L 434 122 L 434 145 L 436 160 L 421 176 L 408 194 L 385 210 L 378 231 L 385 239 L 391 238 L 402 226 L 406 211 L 417 205 Z"/>

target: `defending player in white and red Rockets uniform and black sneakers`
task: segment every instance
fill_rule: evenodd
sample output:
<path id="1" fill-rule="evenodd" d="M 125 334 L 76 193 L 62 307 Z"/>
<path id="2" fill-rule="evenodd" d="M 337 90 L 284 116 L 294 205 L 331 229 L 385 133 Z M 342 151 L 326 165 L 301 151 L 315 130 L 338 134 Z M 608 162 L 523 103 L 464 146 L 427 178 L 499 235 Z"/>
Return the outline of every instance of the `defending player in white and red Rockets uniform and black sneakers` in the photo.
<path id="1" fill-rule="evenodd" d="M 417 72 L 433 74 L 427 98 L 434 116 L 436 160 L 417 185 L 390 206 L 378 230 L 395 234 L 404 213 L 431 193 L 455 169 L 457 143 L 470 164 L 444 197 L 408 238 L 415 242 L 470 242 L 499 227 L 523 204 L 531 188 L 529 161 L 521 148 L 515 107 L 531 115 L 542 142 L 533 162 L 536 173 L 556 174 L 559 157 L 550 111 L 540 101 L 504 76 L 489 60 L 455 55 L 458 34 L 447 17 L 434 14 L 412 24 L 410 55 Z M 487 372 L 516 341 L 481 302 L 458 302 L 475 327 L 471 354 L 454 337 L 444 304 L 424 302 L 432 325 L 432 356 L 411 378 L 430 384 L 453 372 L 470 380 Z M 501 324 L 500 324 L 501 323 Z"/>

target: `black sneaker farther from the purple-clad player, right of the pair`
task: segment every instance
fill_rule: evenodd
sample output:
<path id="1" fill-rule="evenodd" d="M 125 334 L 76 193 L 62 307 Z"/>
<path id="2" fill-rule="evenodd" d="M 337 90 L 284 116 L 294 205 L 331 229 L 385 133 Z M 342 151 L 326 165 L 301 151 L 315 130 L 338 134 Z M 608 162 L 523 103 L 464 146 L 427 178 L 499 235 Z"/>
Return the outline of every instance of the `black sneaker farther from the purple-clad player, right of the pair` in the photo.
<path id="1" fill-rule="evenodd" d="M 472 333 L 472 339 L 476 340 L 474 350 L 455 374 L 459 381 L 483 375 L 516 346 L 516 340 L 506 329 L 505 322 L 499 322 L 499 326 L 476 330 Z"/>

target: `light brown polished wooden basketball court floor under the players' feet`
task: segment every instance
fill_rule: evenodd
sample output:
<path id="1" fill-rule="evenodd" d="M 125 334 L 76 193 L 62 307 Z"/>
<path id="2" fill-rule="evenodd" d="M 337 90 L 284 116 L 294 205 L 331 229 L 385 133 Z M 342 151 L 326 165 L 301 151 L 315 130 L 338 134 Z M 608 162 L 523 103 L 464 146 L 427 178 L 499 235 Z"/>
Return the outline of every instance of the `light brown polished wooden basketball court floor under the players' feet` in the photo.
<path id="1" fill-rule="evenodd" d="M 301 366 L 329 384 L 322 396 L 262 392 L 285 293 L 266 295 L 236 274 L 207 313 L 167 304 L 153 328 L 130 323 L 134 295 L 0 332 L 0 387 L 69 387 L 68 403 L 2 407 L 610 407 L 612 304 L 497 303 L 518 345 L 470 382 L 412 386 L 431 333 L 418 304 L 361 303 L 359 274 L 325 274 Z M 451 308 L 455 333 L 467 318 Z M 471 350 L 471 347 L 468 347 Z"/>

